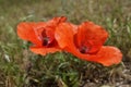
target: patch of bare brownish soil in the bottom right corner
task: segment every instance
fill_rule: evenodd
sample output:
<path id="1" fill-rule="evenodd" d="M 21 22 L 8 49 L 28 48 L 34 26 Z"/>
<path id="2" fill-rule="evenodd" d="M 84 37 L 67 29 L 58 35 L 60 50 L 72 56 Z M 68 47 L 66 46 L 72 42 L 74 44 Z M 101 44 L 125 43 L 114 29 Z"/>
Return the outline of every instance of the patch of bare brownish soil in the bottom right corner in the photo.
<path id="1" fill-rule="evenodd" d="M 95 76 L 92 79 L 86 78 L 81 87 L 131 87 L 131 61 L 124 61 L 123 65 L 122 72 L 118 72 L 110 77 L 98 75 L 99 77 Z"/>

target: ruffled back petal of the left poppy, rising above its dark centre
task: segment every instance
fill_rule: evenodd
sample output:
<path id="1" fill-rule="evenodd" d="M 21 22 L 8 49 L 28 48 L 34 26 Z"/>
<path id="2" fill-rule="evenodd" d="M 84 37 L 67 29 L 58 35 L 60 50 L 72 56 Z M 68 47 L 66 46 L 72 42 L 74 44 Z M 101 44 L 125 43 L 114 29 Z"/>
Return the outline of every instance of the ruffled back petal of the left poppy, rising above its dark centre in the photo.
<path id="1" fill-rule="evenodd" d="M 59 25 L 62 22 L 66 22 L 66 20 L 67 17 L 60 16 L 53 17 L 52 20 L 46 22 L 45 24 L 44 22 L 37 23 L 36 27 L 38 36 L 41 38 L 41 40 L 43 37 L 49 38 L 48 44 L 52 42 L 55 40 L 55 30 L 57 25 Z"/>

